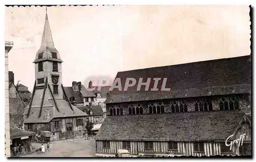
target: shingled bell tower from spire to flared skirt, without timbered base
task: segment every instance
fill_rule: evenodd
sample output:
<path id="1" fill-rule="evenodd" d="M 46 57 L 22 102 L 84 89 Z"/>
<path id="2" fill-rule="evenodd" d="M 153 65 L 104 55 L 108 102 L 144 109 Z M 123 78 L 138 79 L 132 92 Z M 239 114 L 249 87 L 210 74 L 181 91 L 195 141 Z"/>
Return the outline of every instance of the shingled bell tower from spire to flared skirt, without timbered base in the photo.
<path id="1" fill-rule="evenodd" d="M 62 85 L 62 71 L 59 52 L 54 47 L 52 33 L 46 12 L 42 41 L 36 57 L 35 83 L 24 123 L 48 123 L 54 118 L 87 116 L 73 106 Z M 45 127 L 48 129 L 48 127 Z M 64 131 L 64 130 L 63 130 Z M 64 131 L 65 132 L 65 131 Z"/>

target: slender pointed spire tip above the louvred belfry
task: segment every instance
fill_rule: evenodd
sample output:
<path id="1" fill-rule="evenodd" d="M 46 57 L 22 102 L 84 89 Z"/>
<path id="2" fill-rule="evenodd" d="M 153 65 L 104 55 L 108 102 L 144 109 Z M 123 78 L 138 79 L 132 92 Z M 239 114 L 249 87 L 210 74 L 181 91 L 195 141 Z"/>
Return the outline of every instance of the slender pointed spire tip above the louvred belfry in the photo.
<path id="1" fill-rule="evenodd" d="M 52 39 L 52 32 L 50 29 L 50 24 L 48 20 L 48 15 L 47 15 L 47 8 L 46 8 L 46 21 L 45 21 L 45 27 L 44 27 L 44 32 L 42 33 L 42 41 L 41 41 L 41 48 L 42 47 L 48 47 L 53 49 L 54 44 L 53 44 L 53 39 Z"/>

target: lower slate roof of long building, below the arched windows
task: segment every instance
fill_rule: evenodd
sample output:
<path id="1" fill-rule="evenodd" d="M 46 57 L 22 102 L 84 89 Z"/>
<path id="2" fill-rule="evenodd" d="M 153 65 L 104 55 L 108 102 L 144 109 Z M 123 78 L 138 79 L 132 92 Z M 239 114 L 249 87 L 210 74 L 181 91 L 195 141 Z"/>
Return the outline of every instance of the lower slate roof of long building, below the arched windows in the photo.
<path id="1" fill-rule="evenodd" d="M 243 116 L 242 112 L 108 116 L 95 139 L 225 141 Z"/>

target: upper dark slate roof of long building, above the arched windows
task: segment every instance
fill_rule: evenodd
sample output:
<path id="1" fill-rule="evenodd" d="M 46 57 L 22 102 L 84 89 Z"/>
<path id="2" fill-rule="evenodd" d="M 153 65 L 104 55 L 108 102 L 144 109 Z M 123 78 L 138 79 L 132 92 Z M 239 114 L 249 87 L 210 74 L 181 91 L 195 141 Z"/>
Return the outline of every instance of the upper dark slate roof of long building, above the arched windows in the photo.
<path id="1" fill-rule="evenodd" d="M 122 90 L 126 78 L 129 77 L 136 79 L 135 86 L 129 87 L 127 91 L 113 89 L 106 103 L 250 93 L 251 57 L 243 56 L 118 72 L 116 78 L 121 78 Z M 154 77 L 161 78 L 157 87 L 159 91 L 145 91 L 145 86 L 141 86 L 141 90 L 137 91 L 139 78 L 143 78 L 142 82 L 152 78 L 151 89 L 154 87 Z M 165 88 L 170 88 L 170 91 L 161 91 L 163 78 L 167 78 Z"/>

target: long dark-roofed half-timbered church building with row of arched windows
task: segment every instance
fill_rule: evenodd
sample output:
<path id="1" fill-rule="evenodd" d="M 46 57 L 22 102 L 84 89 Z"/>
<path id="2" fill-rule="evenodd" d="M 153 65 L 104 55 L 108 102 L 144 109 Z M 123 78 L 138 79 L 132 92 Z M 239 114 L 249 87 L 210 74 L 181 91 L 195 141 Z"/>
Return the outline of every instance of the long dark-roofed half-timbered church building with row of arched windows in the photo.
<path id="1" fill-rule="evenodd" d="M 136 91 L 138 83 L 127 91 L 113 89 L 95 138 L 96 156 L 115 156 L 119 149 L 132 156 L 251 154 L 250 69 L 245 56 L 118 72 L 122 90 L 126 78 L 167 78 L 170 91 L 160 91 L 161 80 L 159 91 Z M 230 150 L 226 140 L 241 134 L 243 145 Z"/>

